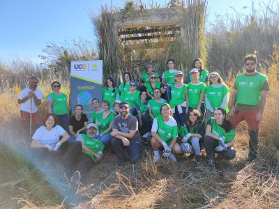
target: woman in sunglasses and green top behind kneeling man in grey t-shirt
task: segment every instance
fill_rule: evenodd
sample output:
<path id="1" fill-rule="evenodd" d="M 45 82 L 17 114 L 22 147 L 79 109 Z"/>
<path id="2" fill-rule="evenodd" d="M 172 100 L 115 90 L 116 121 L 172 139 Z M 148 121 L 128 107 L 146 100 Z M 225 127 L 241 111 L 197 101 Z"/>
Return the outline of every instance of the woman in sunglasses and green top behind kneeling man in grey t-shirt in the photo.
<path id="1" fill-rule="evenodd" d="M 137 82 L 130 82 L 130 91 L 123 93 L 123 102 L 127 102 L 130 106 L 129 114 L 135 116 L 137 114 L 137 109 L 135 109 L 135 102 L 140 100 L 140 91 L 137 91 Z"/>

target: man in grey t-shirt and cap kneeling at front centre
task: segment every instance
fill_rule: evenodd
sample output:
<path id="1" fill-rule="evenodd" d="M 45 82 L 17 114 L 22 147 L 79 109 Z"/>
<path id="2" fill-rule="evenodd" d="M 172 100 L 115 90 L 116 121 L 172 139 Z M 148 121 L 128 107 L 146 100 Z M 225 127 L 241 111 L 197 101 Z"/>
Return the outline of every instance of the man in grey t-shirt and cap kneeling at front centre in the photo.
<path id="1" fill-rule="evenodd" d="M 141 159 L 141 137 L 138 130 L 137 118 L 128 114 L 130 107 L 127 102 L 119 104 L 121 115 L 116 116 L 112 122 L 112 148 L 114 149 L 118 161 L 116 165 L 125 166 L 126 157 L 124 149 L 128 148 L 130 162 L 135 164 Z"/>

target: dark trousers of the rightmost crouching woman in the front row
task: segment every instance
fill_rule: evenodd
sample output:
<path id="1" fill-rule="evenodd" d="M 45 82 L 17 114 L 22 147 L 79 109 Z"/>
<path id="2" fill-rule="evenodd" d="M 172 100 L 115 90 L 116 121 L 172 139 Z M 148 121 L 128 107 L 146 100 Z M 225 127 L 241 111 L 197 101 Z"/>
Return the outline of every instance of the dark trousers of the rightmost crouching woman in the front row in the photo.
<path id="1" fill-rule="evenodd" d="M 223 157 L 226 160 L 232 160 L 236 156 L 236 150 L 234 150 L 233 146 L 230 146 L 227 148 L 227 150 L 222 151 L 222 152 L 216 152 L 215 148 L 218 147 L 218 143 L 216 139 L 213 139 L 209 136 L 204 137 L 204 147 L 206 150 L 206 154 L 209 157 L 209 159 L 214 160 L 214 153 L 222 153 Z"/>

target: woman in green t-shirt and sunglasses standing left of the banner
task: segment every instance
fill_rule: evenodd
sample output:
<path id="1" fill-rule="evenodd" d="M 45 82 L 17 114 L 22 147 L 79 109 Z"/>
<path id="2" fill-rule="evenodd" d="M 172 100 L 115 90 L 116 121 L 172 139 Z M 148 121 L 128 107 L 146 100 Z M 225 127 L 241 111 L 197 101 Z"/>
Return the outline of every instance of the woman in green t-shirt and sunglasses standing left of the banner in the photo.
<path id="1" fill-rule="evenodd" d="M 47 100 L 47 111 L 49 113 L 54 113 L 59 122 L 61 122 L 64 130 L 70 134 L 69 130 L 69 110 L 70 106 L 67 103 L 68 96 L 61 93 L 59 90 L 61 84 L 59 82 L 52 82 L 52 93 L 47 95 L 45 98 Z"/>

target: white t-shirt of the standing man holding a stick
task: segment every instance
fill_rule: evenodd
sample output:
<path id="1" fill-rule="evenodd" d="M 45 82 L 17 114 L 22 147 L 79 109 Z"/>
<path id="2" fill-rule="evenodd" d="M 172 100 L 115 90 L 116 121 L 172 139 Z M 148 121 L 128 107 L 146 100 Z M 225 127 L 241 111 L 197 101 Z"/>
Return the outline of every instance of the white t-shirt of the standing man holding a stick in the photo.
<path id="1" fill-rule="evenodd" d="M 27 95 L 29 95 L 29 91 L 32 91 L 29 87 L 24 88 L 22 90 L 22 92 L 20 93 L 19 99 L 23 100 L 24 98 L 26 98 Z M 34 91 L 34 93 L 39 100 L 43 100 L 43 93 L 42 93 L 42 91 L 40 91 L 40 89 L 36 88 L 36 91 Z M 28 100 L 26 100 L 25 102 L 20 104 L 20 110 L 27 111 L 27 112 L 30 113 L 30 101 L 31 101 L 31 99 L 32 99 L 32 112 L 34 113 L 34 112 L 38 111 L 37 106 L 35 104 L 35 100 L 34 100 L 33 97 L 29 98 Z"/>

